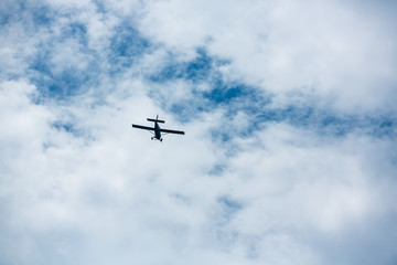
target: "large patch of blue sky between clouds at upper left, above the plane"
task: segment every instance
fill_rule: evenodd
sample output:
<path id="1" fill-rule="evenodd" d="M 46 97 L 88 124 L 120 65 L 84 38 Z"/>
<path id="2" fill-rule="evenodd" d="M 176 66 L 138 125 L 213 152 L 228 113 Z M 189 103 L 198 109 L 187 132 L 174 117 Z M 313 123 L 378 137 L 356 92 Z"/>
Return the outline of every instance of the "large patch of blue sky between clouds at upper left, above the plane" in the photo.
<path id="1" fill-rule="evenodd" d="M 52 22 L 51 11 L 45 6 L 40 6 L 30 11 L 34 26 L 49 26 Z M 141 55 L 149 51 L 150 42 L 130 24 L 124 22 L 116 26 L 114 36 L 110 38 L 109 49 L 104 56 L 103 51 L 88 47 L 87 28 L 79 21 L 74 21 L 71 13 L 60 14 L 71 20 L 61 29 L 61 34 L 37 44 L 39 53 L 30 63 L 31 82 L 44 97 L 67 99 L 95 88 L 99 76 L 115 76 L 122 73 L 137 62 Z M 71 17 L 71 18 L 69 18 Z M 55 50 L 68 41 L 75 43 L 76 57 L 72 64 L 53 65 L 53 57 L 60 51 Z M 82 56 L 84 55 L 84 56 Z M 72 54 L 74 56 L 74 54 Z M 79 60 L 84 67 L 76 68 Z M 110 67 L 108 67 L 110 65 Z"/>

